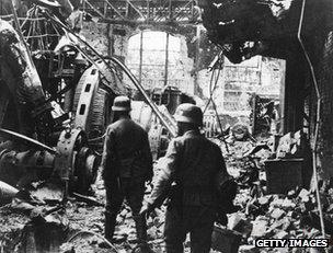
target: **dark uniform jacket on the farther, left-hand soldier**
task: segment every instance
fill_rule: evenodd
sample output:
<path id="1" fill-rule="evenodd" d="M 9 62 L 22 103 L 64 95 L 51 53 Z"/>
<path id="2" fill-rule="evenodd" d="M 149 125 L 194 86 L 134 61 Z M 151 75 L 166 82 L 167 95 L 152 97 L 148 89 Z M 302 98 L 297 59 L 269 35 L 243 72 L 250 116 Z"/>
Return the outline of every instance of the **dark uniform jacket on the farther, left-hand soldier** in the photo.
<path id="1" fill-rule="evenodd" d="M 111 176 L 151 180 L 152 157 L 148 134 L 129 117 L 107 127 L 102 169 L 104 180 Z"/>

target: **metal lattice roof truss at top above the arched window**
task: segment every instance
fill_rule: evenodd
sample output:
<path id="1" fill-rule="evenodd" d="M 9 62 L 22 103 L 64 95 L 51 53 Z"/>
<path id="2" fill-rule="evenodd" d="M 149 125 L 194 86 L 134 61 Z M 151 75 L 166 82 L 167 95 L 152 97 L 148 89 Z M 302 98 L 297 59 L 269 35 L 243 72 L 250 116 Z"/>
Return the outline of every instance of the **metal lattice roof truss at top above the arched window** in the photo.
<path id="1" fill-rule="evenodd" d="M 83 0 L 82 10 L 113 24 L 196 24 L 195 0 Z"/>

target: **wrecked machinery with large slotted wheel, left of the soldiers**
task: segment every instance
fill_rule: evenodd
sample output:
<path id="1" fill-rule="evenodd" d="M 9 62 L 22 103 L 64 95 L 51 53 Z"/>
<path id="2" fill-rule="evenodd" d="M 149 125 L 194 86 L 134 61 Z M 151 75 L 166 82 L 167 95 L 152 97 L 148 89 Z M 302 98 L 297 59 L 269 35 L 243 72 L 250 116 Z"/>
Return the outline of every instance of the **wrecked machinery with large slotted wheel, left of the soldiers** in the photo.
<path id="1" fill-rule="evenodd" d="M 51 177 L 68 189 L 85 191 L 100 164 L 100 150 L 89 140 L 103 135 L 110 122 L 105 104 L 125 90 L 102 91 L 97 68 L 106 67 L 101 61 L 96 66 L 76 64 L 69 50 L 58 59 L 73 66 L 72 74 L 50 69 L 42 82 L 35 68 L 42 60 L 31 55 L 10 23 L 0 22 L 1 181 L 24 187 Z M 47 55 L 50 51 L 41 53 L 43 64 L 49 67 L 55 60 L 49 62 Z M 65 66 L 61 64 L 62 70 Z"/>

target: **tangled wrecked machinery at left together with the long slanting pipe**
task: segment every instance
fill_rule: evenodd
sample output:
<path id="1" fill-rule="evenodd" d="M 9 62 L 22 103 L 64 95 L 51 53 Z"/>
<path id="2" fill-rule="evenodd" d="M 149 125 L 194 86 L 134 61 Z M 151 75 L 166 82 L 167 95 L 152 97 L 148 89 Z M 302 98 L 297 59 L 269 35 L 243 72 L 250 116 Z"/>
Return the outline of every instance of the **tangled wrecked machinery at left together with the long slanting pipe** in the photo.
<path id="1" fill-rule="evenodd" d="M 100 56 L 47 8 L 34 5 L 23 23 L 13 11 L 12 21 L 16 28 L 0 19 L 0 181 L 23 188 L 51 180 L 64 186 L 64 199 L 69 191 L 87 191 L 96 177 L 111 104 L 128 94 L 118 69 L 175 135 L 126 66 Z"/>

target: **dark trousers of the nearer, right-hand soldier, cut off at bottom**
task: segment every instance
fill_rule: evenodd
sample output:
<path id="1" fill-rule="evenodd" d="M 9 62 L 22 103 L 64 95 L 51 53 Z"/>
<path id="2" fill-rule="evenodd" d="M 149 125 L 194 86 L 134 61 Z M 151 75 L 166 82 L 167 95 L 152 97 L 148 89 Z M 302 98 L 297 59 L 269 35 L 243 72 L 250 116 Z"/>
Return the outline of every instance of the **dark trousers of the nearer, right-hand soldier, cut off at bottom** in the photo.
<path id="1" fill-rule="evenodd" d="M 200 206 L 169 206 L 164 239 L 166 253 L 183 253 L 186 234 L 191 235 L 192 253 L 209 253 L 216 210 Z"/>

